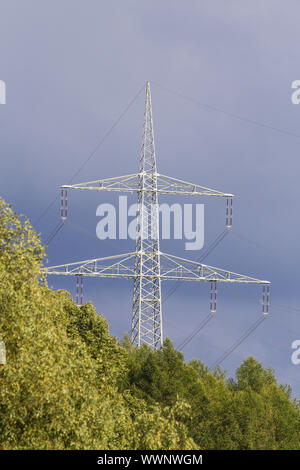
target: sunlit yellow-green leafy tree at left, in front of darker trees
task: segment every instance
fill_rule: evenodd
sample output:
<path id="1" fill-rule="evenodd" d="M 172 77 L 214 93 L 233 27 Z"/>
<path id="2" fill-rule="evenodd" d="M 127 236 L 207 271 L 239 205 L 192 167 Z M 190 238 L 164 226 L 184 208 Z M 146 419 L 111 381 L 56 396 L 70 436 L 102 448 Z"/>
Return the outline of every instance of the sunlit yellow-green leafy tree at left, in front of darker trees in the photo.
<path id="1" fill-rule="evenodd" d="M 127 350 L 91 304 L 78 307 L 67 292 L 47 287 L 39 237 L 3 200 L 0 221 L 0 336 L 7 350 L 0 371 L 0 448 L 143 446 L 136 423 L 144 435 L 153 417 L 164 415 L 121 391 Z M 182 426 L 175 424 L 168 421 L 159 431 L 157 448 L 169 432 L 175 447 L 184 446 Z"/>

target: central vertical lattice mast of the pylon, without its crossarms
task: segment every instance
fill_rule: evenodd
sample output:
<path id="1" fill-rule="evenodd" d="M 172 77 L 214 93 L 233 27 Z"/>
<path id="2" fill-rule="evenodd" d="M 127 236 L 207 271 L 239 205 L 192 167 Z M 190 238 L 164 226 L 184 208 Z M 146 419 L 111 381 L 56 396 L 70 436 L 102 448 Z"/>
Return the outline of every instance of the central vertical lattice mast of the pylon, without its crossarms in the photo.
<path id="1" fill-rule="evenodd" d="M 159 213 L 150 84 L 146 84 L 143 141 L 138 177 L 138 222 L 133 287 L 132 342 L 162 343 Z"/>

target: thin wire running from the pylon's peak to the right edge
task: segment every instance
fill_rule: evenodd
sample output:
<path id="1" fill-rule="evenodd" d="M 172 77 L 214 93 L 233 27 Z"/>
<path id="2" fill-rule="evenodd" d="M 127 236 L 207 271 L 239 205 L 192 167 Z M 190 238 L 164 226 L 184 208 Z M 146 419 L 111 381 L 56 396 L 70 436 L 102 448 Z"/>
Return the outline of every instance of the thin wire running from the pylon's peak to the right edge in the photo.
<path id="1" fill-rule="evenodd" d="M 281 134 L 286 134 L 286 135 L 290 135 L 292 137 L 300 138 L 300 134 L 296 134 L 295 132 L 291 132 L 291 131 L 288 131 L 288 130 L 285 130 L 285 129 L 280 129 L 279 127 L 271 126 L 269 124 L 256 121 L 255 119 L 250 119 L 246 116 L 241 116 L 239 114 L 235 114 L 235 113 L 232 113 L 230 111 L 226 111 L 225 109 L 218 108 L 216 106 L 198 101 L 197 99 L 192 98 L 190 96 L 186 96 L 186 95 L 184 95 L 184 94 L 182 94 L 178 91 L 172 90 L 172 89 L 170 89 L 170 88 L 168 88 L 164 85 L 161 85 L 157 82 L 153 82 L 153 83 L 155 85 L 157 85 L 159 88 L 161 88 L 162 90 L 165 90 L 165 91 L 167 91 L 167 92 L 169 92 L 173 95 L 176 95 L 176 96 L 184 99 L 185 101 L 190 101 L 191 103 L 194 103 L 195 105 L 197 105 L 201 108 L 206 108 L 206 109 L 209 109 L 209 110 L 214 111 L 214 112 L 222 113 L 222 114 L 224 114 L 226 116 L 229 116 L 233 119 L 237 119 L 239 121 L 247 122 L 248 124 L 252 124 L 252 125 L 255 125 L 255 126 L 263 127 L 265 129 L 269 129 L 269 130 L 272 130 L 272 131 L 275 131 L 275 132 L 279 132 Z"/>

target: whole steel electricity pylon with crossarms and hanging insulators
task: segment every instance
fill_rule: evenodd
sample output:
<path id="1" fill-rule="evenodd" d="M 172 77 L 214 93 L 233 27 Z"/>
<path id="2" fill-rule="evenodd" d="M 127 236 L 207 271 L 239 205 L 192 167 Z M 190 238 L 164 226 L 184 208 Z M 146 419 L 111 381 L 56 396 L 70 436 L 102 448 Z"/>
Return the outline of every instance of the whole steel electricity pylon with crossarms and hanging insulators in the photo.
<path id="1" fill-rule="evenodd" d="M 67 217 L 68 189 L 137 193 L 138 218 L 134 252 L 45 268 L 47 274 L 76 276 L 77 301 L 82 302 L 82 278 L 106 277 L 133 280 L 131 340 L 153 349 L 163 342 L 161 281 L 210 282 L 210 311 L 216 311 L 216 285 L 223 283 L 263 284 L 263 313 L 269 308 L 269 282 L 162 253 L 159 248 L 159 194 L 216 196 L 227 198 L 226 227 L 232 225 L 233 194 L 222 193 L 157 173 L 150 84 L 146 84 L 143 140 L 139 173 L 61 187 L 61 217 Z M 80 279 L 80 283 L 79 283 Z M 80 294 L 79 294 L 80 290 Z"/>

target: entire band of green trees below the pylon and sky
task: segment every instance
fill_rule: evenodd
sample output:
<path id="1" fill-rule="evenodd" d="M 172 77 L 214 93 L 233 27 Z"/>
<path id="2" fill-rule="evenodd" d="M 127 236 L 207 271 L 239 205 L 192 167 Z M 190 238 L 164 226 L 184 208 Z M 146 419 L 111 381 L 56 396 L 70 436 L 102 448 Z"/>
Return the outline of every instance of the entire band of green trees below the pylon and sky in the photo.
<path id="1" fill-rule="evenodd" d="M 0 199 L 0 449 L 299 449 L 300 407 L 253 357 L 234 379 L 167 338 L 120 343 L 41 274 L 45 249 Z"/>

